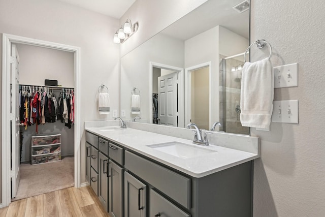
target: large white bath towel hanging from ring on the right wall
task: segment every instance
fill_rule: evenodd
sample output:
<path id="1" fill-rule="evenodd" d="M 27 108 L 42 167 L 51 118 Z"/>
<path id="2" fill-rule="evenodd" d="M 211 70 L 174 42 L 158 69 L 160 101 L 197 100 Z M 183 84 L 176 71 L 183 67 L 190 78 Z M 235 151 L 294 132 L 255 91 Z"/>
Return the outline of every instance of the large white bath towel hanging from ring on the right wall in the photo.
<path id="1" fill-rule="evenodd" d="M 242 126 L 261 129 L 270 127 L 273 88 L 273 68 L 269 58 L 254 63 L 245 63 L 240 96 Z"/>

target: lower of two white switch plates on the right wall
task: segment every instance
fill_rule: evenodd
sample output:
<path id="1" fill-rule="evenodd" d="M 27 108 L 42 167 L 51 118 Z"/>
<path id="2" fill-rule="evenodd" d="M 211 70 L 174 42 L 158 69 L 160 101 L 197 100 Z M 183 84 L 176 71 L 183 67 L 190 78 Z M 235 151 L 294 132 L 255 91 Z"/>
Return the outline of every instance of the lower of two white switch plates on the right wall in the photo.
<path id="1" fill-rule="evenodd" d="M 298 100 L 273 101 L 272 122 L 298 123 Z"/>

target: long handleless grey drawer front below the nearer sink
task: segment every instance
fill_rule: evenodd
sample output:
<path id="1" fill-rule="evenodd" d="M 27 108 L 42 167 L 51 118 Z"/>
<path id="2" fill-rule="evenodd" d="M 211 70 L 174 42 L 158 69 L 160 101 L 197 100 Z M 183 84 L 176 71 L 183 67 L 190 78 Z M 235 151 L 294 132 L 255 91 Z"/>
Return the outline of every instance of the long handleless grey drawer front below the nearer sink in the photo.
<path id="1" fill-rule="evenodd" d="M 191 180 L 165 167 L 125 151 L 125 168 L 146 180 L 182 206 L 190 209 Z M 150 215 L 151 216 L 151 215 Z M 172 216 L 172 215 L 171 215 Z"/>

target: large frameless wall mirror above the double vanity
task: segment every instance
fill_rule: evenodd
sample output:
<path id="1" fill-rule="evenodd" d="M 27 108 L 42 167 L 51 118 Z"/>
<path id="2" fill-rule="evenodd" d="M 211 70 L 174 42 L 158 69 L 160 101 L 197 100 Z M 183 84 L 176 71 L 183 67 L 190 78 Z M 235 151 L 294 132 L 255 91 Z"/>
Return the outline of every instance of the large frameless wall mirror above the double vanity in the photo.
<path id="1" fill-rule="evenodd" d="M 121 57 L 123 118 L 249 134 L 239 119 L 248 46 L 248 1 L 207 1 Z"/>

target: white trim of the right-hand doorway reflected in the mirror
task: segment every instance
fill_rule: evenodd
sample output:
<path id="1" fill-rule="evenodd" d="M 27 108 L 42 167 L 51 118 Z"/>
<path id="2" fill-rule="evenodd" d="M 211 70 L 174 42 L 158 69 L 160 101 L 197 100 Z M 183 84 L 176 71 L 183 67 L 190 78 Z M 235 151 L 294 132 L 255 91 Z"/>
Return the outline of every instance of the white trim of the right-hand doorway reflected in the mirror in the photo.
<path id="1" fill-rule="evenodd" d="M 199 64 L 185 69 L 185 123 L 189 123 L 191 114 L 191 71 L 209 67 L 209 126 L 212 123 L 212 62 Z M 209 129 L 208 129 L 209 130 Z"/>

